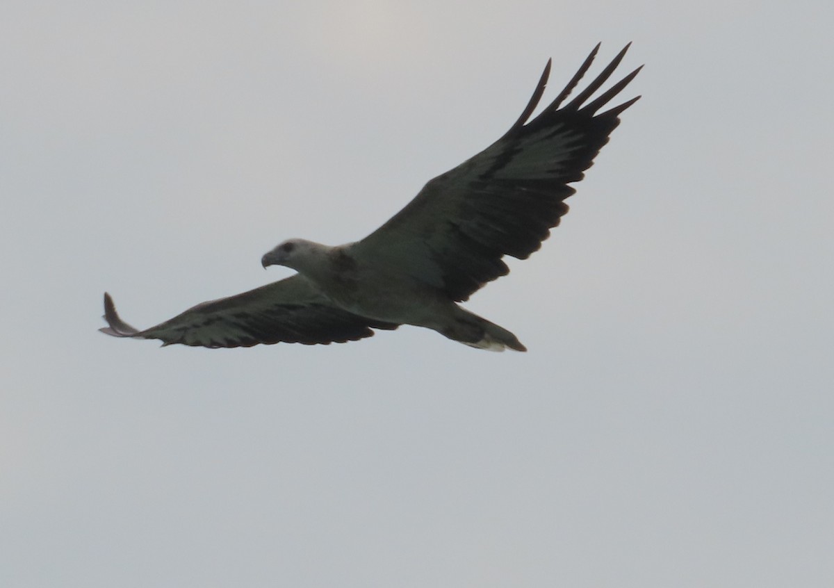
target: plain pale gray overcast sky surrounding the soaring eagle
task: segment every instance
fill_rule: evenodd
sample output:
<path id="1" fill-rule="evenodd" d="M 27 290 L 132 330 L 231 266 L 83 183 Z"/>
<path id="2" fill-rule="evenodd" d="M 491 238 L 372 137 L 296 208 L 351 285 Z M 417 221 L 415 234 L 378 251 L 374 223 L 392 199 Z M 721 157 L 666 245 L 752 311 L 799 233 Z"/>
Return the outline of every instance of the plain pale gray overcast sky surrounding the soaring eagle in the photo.
<path id="1" fill-rule="evenodd" d="M 0 585 L 834 584 L 830 2 L 173 4 L 4 3 Z M 529 353 L 97 332 L 359 239 L 597 41 L 644 98 L 468 304 Z"/>

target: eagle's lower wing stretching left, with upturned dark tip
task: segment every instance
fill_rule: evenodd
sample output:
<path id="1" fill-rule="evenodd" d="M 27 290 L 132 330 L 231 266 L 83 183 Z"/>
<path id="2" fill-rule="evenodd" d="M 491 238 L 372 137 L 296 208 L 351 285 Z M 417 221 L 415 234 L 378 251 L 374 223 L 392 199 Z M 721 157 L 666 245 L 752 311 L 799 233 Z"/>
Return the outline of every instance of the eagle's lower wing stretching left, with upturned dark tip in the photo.
<path id="1" fill-rule="evenodd" d="M 104 316 L 114 337 L 161 339 L 202 347 L 251 347 L 259 343 L 344 343 L 370 337 L 371 329 L 399 325 L 366 319 L 339 309 L 299 274 L 273 284 L 211 302 L 203 302 L 150 329 L 138 330 L 119 318 L 110 294 Z"/>

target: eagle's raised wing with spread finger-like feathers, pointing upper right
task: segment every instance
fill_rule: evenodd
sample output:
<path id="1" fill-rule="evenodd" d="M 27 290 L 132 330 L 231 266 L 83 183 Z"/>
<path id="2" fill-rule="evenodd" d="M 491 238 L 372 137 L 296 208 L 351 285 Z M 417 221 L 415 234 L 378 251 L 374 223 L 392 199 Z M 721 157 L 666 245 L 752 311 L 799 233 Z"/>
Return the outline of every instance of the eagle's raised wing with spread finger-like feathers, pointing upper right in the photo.
<path id="1" fill-rule="evenodd" d="M 434 178 L 398 214 L 354 244 L 352 253 L 371 264 L 395 267 L 450 299 L 465 300 L 510 270 L 501 258 L 526 259 L 568 211 L 563 202 L 593 163 L 618 115 L 639 96 L 597 114 L 640 71 L 587 102 L 614 73 L 629 46 L 560 108 L 590 68 L 597 45 L 564 90 L 528 122 L 550 74 L 545 67 L 533 97 L 507 133 L 489 148 Z"/>

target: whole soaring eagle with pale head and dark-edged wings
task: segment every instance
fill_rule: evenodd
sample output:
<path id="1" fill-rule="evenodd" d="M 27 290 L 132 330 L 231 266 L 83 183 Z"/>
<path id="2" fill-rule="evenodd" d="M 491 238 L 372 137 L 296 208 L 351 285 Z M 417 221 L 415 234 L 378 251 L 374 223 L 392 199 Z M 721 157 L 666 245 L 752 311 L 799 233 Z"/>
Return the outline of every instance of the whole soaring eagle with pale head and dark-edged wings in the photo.
<path id="1" fill-rule="evenodd" d="M 629 43 L 631 45 L 631 43 Z M 289 239 L 265 254 L 264 268 L 297 273 L 273 284 L 203 302 L 138 330 L 104 294 L 102 330 L 163 345 L 250 347 L 279 342 L 344 343 L 412 324 L 479 349 L 525 351 L 515 334 L 459 302 L 508 274 L 505 255 L 527 259 L 567 213 L 565 199 L 640 96 L 598 113 L 637 75 L 590 100 L 614 73 L 614 60 L 570 102 L 600 45 L 550 105 L 530 119 L 550 75 L 547 62 L 524 112 L 475 157 L 432 179 L 398 214 L 360 241 L 330 247 Z M 642 67 L 642 66 L 641 66 Z M 590 100 L 590 101 L 589 101 Z"/>

